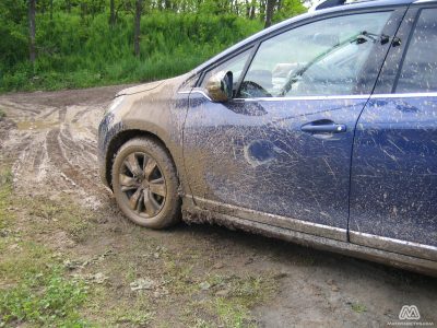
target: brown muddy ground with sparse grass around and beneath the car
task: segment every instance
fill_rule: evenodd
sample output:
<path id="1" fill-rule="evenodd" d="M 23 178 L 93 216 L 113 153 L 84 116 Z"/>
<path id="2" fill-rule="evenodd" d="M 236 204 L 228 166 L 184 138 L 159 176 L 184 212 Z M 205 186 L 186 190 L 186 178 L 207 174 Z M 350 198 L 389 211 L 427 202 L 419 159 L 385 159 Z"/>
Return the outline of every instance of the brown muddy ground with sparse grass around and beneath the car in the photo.
<path id="1" fill-rule="evenodd" d="M 81 308 L 86 319 L 380 327 L 416 305 L 421 320 L 437 325 L 437 281 L 428 277 L 217 226 L 155 232 L 129 223 L 102 186 L 96 159 L 98 121 L 121 89 L 0 96 L 0 162 L 12 167 L 13 198 L 28 199 L 9 209 L 17 213 L 10 230 L 50 248 L 66 274 L 95 280 Z M 74 226 L 64 219 L 73 214 Z M 20 247 L 10 248 L 20 256 Z"/>

